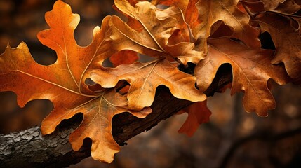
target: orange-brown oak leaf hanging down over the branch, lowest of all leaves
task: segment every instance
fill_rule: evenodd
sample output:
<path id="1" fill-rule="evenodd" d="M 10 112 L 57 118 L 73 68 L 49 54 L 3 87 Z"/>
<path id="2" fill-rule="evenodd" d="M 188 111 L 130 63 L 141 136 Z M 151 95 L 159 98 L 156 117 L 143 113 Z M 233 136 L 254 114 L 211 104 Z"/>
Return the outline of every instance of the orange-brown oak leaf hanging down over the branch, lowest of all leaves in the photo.
<path id="1" fill-rule="evenodd" d="M 100 97 L 91 99 L 90 102 L 82 104 L 67 111 L 62 119 L 71 118 L 76 113 L 83 113 L 81 125 L 70 134 L 69 141 L 74 151 L 78 151 L 83 145 L 85 138 L 92 140 L 91 156 L 95 160 L 102 162 L 112 162 L 114 154 L 120 151 L 119 144 L 112 136 L 112 118 L 116 114 L 130 112 L 138 118 L 145 118 L 152 110 L 149 108 L 142 111 L 131 111 L 127 107 L 126 96 L 116 93 L 114 90 L 103 92 Z M 52 122 L 54 117 L 49 116 L 48 122 Z M 44 122 L 44 125 L 48 123 Z"/>

